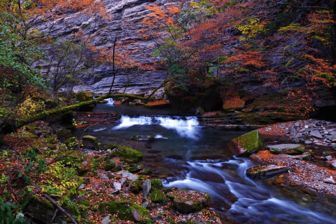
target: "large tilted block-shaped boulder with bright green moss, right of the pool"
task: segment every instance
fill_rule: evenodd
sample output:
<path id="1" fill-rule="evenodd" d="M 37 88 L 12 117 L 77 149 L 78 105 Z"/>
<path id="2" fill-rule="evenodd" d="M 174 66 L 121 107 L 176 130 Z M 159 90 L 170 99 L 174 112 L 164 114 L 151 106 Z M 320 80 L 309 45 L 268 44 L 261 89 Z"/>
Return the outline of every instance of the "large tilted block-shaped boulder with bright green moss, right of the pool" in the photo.
<path id="1" fill-rule="evenodd" d="M 235 144 L 238 155 L 249 155 L 262 148 L 262 141 L 258 130 L 238 136 L 231 141 Z"/>

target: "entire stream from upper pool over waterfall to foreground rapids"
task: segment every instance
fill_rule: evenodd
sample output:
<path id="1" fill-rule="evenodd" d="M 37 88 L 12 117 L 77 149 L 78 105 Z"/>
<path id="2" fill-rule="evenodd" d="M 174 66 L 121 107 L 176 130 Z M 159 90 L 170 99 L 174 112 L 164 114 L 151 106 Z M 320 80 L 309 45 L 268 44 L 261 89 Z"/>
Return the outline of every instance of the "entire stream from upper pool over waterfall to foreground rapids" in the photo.
<path id="1" fill-rule="evenodd" d="M 196 117 L 170 110 L 113 106 L 112 99 L 95 110 L 121 113 L 122 117 L 113 125 L 79 129 L 78 135 L 84 132 L 102 144 L 127 145 L 142 151 L 142 163 L 163 180 L 164 187 L 209 193 L 211 207 L 223 217 L 242 223 L 336 223 L 334 206 L 248 178 L 246 170 L 256 164 L 234 156 L 229 143 L 244 131 L 202 127 Z M 131 139 L 138 135 L 154 136 L 155 140 Z"/>

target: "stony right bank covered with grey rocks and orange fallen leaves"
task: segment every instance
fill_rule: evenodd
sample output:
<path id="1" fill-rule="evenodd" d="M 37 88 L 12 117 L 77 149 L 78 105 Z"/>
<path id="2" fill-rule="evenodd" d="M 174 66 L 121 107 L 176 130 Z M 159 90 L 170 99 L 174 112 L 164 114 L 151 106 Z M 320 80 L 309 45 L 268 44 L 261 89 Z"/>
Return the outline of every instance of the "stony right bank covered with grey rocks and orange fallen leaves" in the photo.
<path id="1" fill-rule="evenodd" d="M 336 202 L 335 123 L 300 120 L 269 125 L 258 132 L 263 147 L 250 157 L 260 166 L 250 168 L 247 175 L 265 178 L 267 184 L 289 194 L 300 192 L 312 200 Z"/>

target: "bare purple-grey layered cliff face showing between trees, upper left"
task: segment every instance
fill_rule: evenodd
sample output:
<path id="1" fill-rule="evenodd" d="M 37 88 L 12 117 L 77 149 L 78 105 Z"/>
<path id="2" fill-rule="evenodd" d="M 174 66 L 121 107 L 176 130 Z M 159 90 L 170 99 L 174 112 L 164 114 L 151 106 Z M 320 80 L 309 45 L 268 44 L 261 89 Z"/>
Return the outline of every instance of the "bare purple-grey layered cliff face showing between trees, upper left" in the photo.
<path id="1" fill-rule="evenodd" d="M 41 32 L 51 31 L 52 37 L 60 40 L 67 40 L 73 37 L 73 33 L 84 32 L 90 38 L 90 43 L 98 49 L 113 48 L 115 37 L 117 37 L 116 52 L 122 50 L 132 51 L 129 58 L 141 64 L 153 65 L 153 61 L 160 61 L 153 58 L 151 54 L 155 49 L 155 40 L 143 39 L 138 33 L 140 29 L 148 30 L 148 25 L 142 24 L 143 17 L 150 13 L 147 9 L 152 4 L 169 5 L 175 1 L 161 0 L 105 0 L 104 8 L 112 16 L 111 21 L 89 17 L 85 14 L 66 13 L 65 18 L 56 19 L 54 22 L 46 21 L 37 26 Z M 177 1 L 176 1 L 177 2 Z M 68 16 L 69 15 L 69 16 Z M 124 46 L 118 46 L 124 45 Z M 112 90 L 115 93 L 143 93 L 157 87 L 165 78 L 166 72 L 161 68 L 157 70 L 145 70 L 141 72 L 118 70 L 116 66 L 116 79 Z M 102 64 L 89 72 L 83 74 L 81 80 L 85 85 L 77 85 L 74 91 L 90 91 L 98 94 L 109 92 L 113 80 L 112 65 Z"/>

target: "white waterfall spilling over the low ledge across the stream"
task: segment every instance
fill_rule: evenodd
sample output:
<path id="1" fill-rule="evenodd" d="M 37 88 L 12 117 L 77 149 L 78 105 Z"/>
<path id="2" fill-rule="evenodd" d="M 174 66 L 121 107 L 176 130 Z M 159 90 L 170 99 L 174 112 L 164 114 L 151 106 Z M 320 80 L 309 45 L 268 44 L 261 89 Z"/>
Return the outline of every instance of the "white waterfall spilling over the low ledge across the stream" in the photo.
<path id="1" fill-rule="evenodd" d="M 166 129 L 172 129 L 181 138 L 198 139 L 199 122 L 196 117 L 169 117 L 169 116 L 139 116 L 129 117 L 123 115 L 120 124 L 113 129 L 126 129 L 133 125 L 160 125 Z M 163 136 L 162 136 L 163 137 Z M 162 138 L 161 137 L 161 138 Z M 158 137 L 159 138 L 159 137 Z"/>

